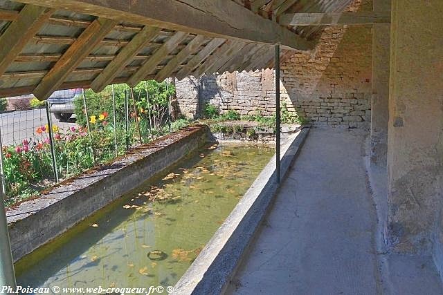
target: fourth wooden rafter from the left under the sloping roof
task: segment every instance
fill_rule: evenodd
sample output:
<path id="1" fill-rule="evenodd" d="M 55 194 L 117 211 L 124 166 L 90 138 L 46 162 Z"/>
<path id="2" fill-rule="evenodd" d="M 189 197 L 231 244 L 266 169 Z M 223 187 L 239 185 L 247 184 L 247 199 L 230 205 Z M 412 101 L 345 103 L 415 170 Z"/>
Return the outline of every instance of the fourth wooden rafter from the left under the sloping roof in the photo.
<path id="1" fill-rule="evenodd" d="M 177 47 L 182 41 L 188 37 L 187 32 L 176 32 L 168 41 L 165 41 L 165 44 L 163 44 L 159 49 L 156 50 L 156 52 L 150 57 L 150 59 L 147 59 L 147 61 L 139 68 L 134 75 L 132 75 L 128 81 L 127 84 L 129 86 L 136 86 L 138 82 L 141 82 L 143 79 L 145 79 L 148 75 L 151 75 L 153 72 L 153 68 L 161 63 L 163 59 L 167 55 L 169 55 L 174 48 Z"/>

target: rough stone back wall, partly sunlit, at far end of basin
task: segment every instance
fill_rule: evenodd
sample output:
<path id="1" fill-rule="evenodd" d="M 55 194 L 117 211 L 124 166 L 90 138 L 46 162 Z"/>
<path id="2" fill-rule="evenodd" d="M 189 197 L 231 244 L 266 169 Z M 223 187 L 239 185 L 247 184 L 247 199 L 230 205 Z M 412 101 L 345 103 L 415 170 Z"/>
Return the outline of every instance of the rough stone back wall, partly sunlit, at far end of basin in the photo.
<path id="1" fill-rule="evenodd" d="M 348 10 L 372 10 L 372 1 L 354 0 Z M 371 79 L 371 26 L 329 27 L 314 52 L 283 59 L 280 92 L 289 111 L 313 124 L 369 129 Z M 198 117 L 199 104 L 206 102 L 219 106 L 221 113 L 233 109 L 242 115 L 272 115 L 275 109 L 273 70 L 187 77 L 176 86 L 187 117 Z"/>

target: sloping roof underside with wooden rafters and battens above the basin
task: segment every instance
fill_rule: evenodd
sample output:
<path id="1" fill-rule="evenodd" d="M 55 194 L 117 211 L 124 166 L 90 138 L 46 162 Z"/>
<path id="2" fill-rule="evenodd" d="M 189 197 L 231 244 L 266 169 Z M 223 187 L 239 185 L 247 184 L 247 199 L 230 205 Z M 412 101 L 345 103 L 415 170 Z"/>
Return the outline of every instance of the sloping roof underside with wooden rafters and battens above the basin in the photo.
<path id="1" fill-rule="evenodd" d="M 339 12 L 350 3 L 350 0 L 225 1 L 233 1 L 240 10 L 252 10 L 264 21 L 274 22 L 284 12 Z M 115 83 L 133 86 L 144 79 L 162 81 L 167 77 L 183 79 L 188 75 L 199 77 L 204 73 L 273 67 L 272 44 L 197 35 L 146 26 L 143 22 L 109 20 L 85 14 L 84 10 L 51 6 L 52 9 L 44 10 L 29 3 L 33 1 L 24 2 L 27 4 L 0 0 L 2 97 L 34 93 L 39 99 L 46 99 L 53 91 L 66 88 L 100 91 Z M 26 8 L 32 9 L 26 11 Z M 316 39 L 322 27 L 284 29 L 309 41 Z M 282 55 L 287 53 L 282 50 Z"/>

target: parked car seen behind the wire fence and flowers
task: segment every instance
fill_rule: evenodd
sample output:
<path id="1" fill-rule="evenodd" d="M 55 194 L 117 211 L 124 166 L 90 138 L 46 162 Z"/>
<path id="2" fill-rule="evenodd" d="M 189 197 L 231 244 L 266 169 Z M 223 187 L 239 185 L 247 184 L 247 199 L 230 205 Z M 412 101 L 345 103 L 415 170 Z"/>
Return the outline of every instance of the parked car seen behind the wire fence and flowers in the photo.
<path id="1" fill-rule="evenodd" d="M 79 95 L 81 88 L 55 91 L 48 98 L 51 113 L 60 121 L 68 121 L 74 113 L 74 99 Z"/>

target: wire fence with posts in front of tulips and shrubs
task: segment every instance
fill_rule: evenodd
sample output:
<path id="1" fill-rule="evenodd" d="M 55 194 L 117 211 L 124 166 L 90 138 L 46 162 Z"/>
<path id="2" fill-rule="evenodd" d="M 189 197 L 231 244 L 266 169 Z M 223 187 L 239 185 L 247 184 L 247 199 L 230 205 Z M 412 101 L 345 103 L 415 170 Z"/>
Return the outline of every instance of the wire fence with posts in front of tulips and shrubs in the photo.
<path id="1" fill-rule="evenodd" d="M 124 155 L 186 126 L 172 110 L 174 86 L 141 82 L 78 89 L 36 108 L 0 114 L 1 174 L 6 204 Z"/>

